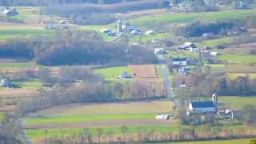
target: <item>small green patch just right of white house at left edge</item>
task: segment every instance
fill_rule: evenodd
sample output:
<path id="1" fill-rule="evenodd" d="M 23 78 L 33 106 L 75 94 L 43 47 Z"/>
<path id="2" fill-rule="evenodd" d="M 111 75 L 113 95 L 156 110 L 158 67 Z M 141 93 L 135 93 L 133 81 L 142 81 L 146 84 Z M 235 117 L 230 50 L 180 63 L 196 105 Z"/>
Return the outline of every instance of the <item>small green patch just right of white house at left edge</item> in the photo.
<path id="1" fill-rule="evenodd" d="M 39 82 L 36 78 L 30 78 L 25 80 L 15 80 L 13 82 L 15 85 L 19 86 L 20 89 L 24 90 L 37 90 L 40 86 L 42 86 L 42 83 Z"/>

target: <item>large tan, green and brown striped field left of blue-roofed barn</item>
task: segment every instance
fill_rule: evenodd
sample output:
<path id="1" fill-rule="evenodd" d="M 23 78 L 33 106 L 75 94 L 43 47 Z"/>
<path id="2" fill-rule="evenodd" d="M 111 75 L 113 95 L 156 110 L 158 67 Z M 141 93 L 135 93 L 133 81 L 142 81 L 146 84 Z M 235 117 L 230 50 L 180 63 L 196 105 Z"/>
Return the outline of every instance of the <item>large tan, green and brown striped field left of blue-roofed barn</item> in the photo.
<path id="1" fill-rule="evenodd" d="M 86 128 L 95 132 L 98 127 L 121 134 L 119 127 L 122 125 L 128 126 L 130 133 L 135 133 L 139 126 L 164 131 L 170 130 L 172 121 L 156 120 L 155 115 L 170 114 L 172 110 L 173 104 L 169 101 L 72 104 L 29 114 L 24 119 L 24 126 L 29 128 L 26 134 L 32 140 L 44 138 L 45 129 L 50 135 L 62 134 L 63 130 L 70 135 Z M 177 126 L 173 126 L 174 130 L 178 130 Z"/>

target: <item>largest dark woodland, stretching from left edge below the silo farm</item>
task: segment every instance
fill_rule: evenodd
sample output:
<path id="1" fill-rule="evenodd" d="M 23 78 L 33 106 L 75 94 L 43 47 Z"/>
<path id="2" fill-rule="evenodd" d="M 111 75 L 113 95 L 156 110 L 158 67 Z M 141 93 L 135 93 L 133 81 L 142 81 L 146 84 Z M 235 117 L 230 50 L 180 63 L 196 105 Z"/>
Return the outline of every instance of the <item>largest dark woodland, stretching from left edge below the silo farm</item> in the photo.
<path id="1" fill-rule="evenodd" d="M 140 46 L 104 42 L 96 32 L 63 32 L 55 38 L 14 39 L 0 46 L 0 56 L 30 58 L 44 66 L 127 65 L 156 63 L 154 53 Z"/>

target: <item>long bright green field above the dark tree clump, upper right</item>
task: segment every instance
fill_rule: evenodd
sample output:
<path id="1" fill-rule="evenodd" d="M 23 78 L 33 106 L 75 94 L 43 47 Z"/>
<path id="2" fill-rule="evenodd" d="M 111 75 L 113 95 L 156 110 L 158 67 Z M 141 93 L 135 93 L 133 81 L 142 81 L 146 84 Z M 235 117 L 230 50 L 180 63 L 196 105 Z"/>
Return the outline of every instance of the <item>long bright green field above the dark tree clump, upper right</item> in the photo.
<path id="1" fill-rule="evenodd" d="M 214 22 L 219 19 L 238 19 L 248 16 L 256 16 L 256 10 L 226 10 L 208 13 L 178 13 L 178 14 L 155 14 L 154 16 L 144 16 L 129 22 L 141 27 L 158 26 L 158 24 L 184 23 L 195 21 Z"/>

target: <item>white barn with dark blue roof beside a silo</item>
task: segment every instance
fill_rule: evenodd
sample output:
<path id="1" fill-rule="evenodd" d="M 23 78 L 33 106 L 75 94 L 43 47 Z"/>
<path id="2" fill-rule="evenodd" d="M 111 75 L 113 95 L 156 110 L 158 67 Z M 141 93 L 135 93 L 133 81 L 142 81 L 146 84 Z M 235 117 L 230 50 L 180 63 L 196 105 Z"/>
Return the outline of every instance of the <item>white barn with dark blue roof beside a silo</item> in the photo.
<path id="1" fill-rule="evenodd" d="M 215 113 L 217 111 L 214 102 L 190 102 L 189 111 L 192 113 Z"/>

